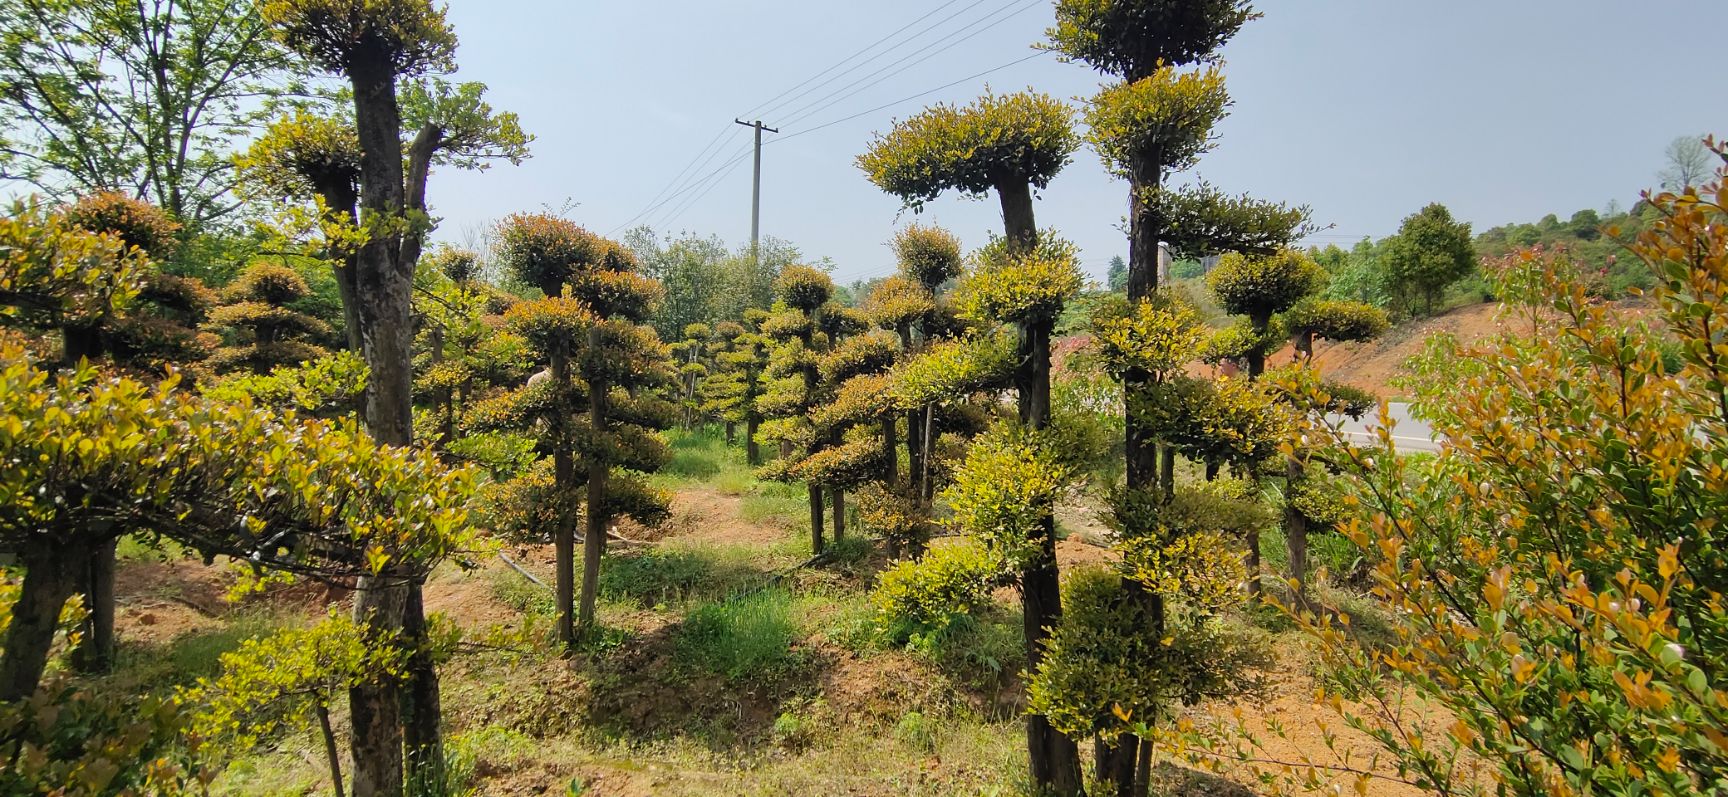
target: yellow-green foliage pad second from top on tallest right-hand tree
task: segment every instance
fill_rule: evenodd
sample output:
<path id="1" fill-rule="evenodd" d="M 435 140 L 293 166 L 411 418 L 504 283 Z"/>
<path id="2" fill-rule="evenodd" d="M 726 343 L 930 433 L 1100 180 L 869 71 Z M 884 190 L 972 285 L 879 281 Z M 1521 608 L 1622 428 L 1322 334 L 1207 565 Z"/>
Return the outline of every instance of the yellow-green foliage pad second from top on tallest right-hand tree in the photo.
<path id="1" fill-rule="evenodd" d="M 1087 140 L 1116 176 L 1128 178 L 1142 168 L 1182 171 L 1211 149 L 1211 128 L 1229 107 L 1217 66 L 1194 71 L 1165 66 L 1099 92 L 1087 105 Z"/>

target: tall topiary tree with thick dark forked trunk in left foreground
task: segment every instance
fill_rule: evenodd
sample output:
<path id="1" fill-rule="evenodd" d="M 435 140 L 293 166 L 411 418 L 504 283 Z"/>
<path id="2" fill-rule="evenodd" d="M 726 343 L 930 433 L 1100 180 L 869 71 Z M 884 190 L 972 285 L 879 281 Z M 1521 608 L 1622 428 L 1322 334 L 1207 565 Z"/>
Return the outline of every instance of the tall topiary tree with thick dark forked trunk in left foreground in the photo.
<path id="1" fill-rule="evenodd" d="M 458 128 L 510 133 L 513 119 L 491 119 L 479 92 L 403 90 L 399 78 L 449 71 L 456 35 L 444 21 L 444 9 L 430 0 L 268 0 L 259 16 L 290 48 L 314 66 L 347 78 L 354 102 L 354 133 L 359 143 L 359 197 L 356 220 L 366 232 L 354 249 L 353 268 L 339 270 L 339 282 L 353 280 L 347 292 L 359 328 L 359 344 L 372 377 L 366 380 L 366 427 L 380 441 L 406 446 L 413 437 L 413 275 L 429 230 L 425 185 L 434 157 Z M 422 102 L 448 97 L 449 104 Z M 451 114 L 420 114 L 442 107 Z M 408 114 L 404 114 L 408 111 Z M 404 119 L 416 124 L 411 143 L 403 145 Z M 480 124 L 458 124 L 480 121 Z M 513 152 L 527 140 L 515 130 Z M 385 595 L 361 584 L 356 612 L 372 615 L 382 628 L 404 626 L 423 641 L 418 584 L 401 586 L 406 595 Z M 397 607 L 403 607 L 397 610 Z M 439 690 L 427 655 L 411 666 L 408 705 L 410 764 L 416 780 L 439 785 L 442 742 Z M 353 690 L 356 759 L 354 794 L 401 790 L 396 738 L 401 728 L 396 695 L 389 686 Z"/>

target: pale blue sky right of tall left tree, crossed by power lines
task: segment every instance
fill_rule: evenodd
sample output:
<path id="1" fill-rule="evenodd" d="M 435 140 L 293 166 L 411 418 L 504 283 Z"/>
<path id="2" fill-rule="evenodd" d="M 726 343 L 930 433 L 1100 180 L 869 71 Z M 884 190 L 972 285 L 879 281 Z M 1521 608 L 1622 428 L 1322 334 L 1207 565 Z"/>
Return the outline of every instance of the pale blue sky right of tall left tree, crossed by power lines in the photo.
<path id="1" fill-rule="evenodd" d="M 1693 57 L 1714 52 L 1723 0 L 1256 5 L 1223 48 L 1230 116 L 1185 176 L 1310 206 L 1325 226 L 1310 244 L 1391 235 L 1427 202 L 1477 230 L 1630 206 L 1668 142 L 1728 133 L 1728 83 Z M 741 118 L 779 128 L 764 133 L 762 233 L 831 259 L 838 282 L 892 273 L 885 242 L 914 220 L 980 245 L 1001 230 L 994 199 L 950 194 L 914 216 L 854 159 L 895 119 L 987 85 L 1078 105 L 1101 76 L 1037 55 L 1052 19 L 1049 0 L 451 0 L 454 80 L 484 81 L 536 140 L 522 166 L 434 173 L 435 239 L 475 244 L 505 214 L 553 211 L 612 237 L 648 223 L 743 244 Z M 1037 218 L 1101 277 L 1127 254 L 1125 206 L 1082 149 Z"/>

